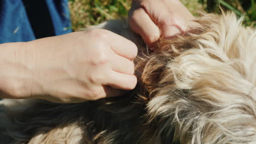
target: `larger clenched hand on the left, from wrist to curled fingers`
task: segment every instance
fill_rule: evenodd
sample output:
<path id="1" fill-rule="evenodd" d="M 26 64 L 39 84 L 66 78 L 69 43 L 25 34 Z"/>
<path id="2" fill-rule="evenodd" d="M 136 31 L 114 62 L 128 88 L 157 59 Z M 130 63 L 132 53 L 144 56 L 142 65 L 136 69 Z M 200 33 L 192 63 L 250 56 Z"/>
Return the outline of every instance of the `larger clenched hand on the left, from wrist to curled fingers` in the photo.
<path id="1" fill-rule="evenodd" d="M 130 90 L 137 83 L 133 75 L 136 45 L 107 30 L 30 41 L 21 53 L 24 57 L 17 58 L 17 63 L 22 74 L 15 76 L 27 91 L 22 89 L 13 98 L 79 103 L 118 96 L 117 89 Z"/>

